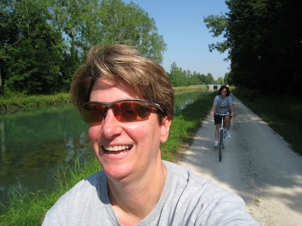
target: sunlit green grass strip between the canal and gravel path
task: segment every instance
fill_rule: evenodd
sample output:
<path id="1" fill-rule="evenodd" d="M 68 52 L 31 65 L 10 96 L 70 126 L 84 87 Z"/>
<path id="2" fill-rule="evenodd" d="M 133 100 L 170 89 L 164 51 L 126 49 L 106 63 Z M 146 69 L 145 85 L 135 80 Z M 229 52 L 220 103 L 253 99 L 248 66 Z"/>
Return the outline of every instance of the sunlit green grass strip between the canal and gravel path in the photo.
<path id="1" fill-rule="evenodd" d="M 199 128 L 202 119 L 207 116 L 214 96 L 205 96 L 193 104 L 187 105 L 173 120 L 170 136 L 165 143 L 163 159 L 177 161 L 178 153 L 183 144 L 188 141 Z M 75 170 L 69 168 L 58 171 L 59 188 L 51 194 L 43 192 L 25 193 L 18 191 L 12 194 L 11 205 L 0 215 L 0 225 L 41 225 L 43 217 L 55 201 L 75 183 L 100 170 L 95 158 L 87 159 L 84 166 L 77 164 Z M 64 179 L 66 172 L 71 172 L 71 178 Z M 3 207 L 4 208 L 4 207 Z"/>

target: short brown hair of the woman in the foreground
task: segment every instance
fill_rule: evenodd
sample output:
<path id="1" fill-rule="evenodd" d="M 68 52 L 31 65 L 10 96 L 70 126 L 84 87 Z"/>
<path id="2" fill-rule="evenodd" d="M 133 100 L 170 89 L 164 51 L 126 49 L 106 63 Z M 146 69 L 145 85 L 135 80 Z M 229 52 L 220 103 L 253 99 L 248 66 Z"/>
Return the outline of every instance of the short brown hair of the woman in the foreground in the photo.
<path id="1" fill-rule="evenodd" d="M 91 48 L 86 63 L 74 72 L 71 82 L 71 98 L 80 113 L 100 78 L 124 80 L 140 98 L 160 104 L 165 111 L 160 121 L 164 116 L 173 119 L 174 94 L 166 71 L 157 61 L 142 57 L 136 48 L 126 45 Z"/>

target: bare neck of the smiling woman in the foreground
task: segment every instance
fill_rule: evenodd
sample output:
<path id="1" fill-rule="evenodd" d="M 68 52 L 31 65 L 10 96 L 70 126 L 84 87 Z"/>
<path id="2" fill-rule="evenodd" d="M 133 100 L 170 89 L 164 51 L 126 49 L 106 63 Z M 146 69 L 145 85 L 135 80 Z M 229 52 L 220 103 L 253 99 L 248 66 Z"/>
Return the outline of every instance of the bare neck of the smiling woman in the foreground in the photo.
<path id="1" fill-rule="evenodd" d="M 158 203 L 166 181 L 166 167 L 159 162 L 152 171 L 129 183 L 108 180 L 113 210 L 123 225 L 133 225 L 148 215 Z"/>

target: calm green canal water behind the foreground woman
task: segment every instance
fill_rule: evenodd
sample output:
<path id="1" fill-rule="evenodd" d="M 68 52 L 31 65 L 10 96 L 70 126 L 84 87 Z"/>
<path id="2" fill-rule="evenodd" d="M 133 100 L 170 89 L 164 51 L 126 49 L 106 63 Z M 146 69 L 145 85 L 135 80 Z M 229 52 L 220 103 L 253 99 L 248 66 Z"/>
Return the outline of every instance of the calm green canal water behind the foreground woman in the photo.
<path id="1" fill-rule="evenodd" d="M 175 94 L 175 114 L 206 91 Z M 71 104 L 0 115 L 0 204 L 15 188 L 36 192 L 56 189 L 58 169 L 93 155 L 88 124 Z"/>

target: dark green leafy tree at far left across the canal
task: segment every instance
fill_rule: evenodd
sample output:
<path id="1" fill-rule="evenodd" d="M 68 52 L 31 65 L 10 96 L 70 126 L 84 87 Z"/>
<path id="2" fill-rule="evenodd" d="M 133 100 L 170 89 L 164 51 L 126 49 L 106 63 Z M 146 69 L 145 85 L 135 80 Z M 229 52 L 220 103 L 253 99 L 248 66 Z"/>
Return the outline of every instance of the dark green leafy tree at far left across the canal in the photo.
<path id="1" fill-rule="evenodd" d="M 57 62 L 61 58 L 56 49 L 58 34 L 47 23 L 43 11 L 39 1 L 14 2 L 10 17 L 19 39 L 7 46 L 10 74 L 6 74 L 5 87 L 10 90 L 26 94 L 51 93 L 57 85 Z"/>

